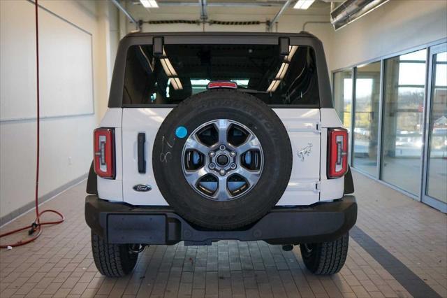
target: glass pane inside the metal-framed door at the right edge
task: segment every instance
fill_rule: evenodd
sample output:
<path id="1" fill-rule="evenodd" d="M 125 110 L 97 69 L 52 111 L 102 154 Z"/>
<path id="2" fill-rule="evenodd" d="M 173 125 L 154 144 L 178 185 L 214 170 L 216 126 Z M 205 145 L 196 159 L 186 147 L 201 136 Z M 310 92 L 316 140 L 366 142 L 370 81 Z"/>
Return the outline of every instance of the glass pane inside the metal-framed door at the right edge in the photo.
<path id="1" fill-rule="evenodd" d="M 427 194 L 447 203 L 447 52 L 433 57 Z"/>

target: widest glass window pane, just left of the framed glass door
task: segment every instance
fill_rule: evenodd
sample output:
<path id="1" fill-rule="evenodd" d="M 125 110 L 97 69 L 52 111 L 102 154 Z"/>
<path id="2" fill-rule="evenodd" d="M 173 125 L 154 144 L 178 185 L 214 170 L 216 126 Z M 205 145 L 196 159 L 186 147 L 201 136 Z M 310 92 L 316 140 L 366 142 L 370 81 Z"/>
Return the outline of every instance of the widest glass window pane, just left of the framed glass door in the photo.
<path id="1" fill-rule="evenodd" d="M 418 194 L 427 51 L 385 60 L 382 179 Z"/>

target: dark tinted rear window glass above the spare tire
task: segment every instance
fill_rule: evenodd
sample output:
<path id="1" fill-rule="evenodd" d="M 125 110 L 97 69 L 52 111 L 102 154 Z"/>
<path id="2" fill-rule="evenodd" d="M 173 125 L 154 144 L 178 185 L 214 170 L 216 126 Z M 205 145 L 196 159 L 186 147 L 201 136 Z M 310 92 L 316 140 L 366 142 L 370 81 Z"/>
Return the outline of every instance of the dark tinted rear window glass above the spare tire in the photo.
<path id="1" fill-rule="evenodd" d="M 133 45 L 126 57 L 123 104 L 175 105 L 205 92 L 217 80 L 237 83 L 269 105 L 318 106 L 314 50 L 291 45 L 281 56 L 279 45 Z"/>

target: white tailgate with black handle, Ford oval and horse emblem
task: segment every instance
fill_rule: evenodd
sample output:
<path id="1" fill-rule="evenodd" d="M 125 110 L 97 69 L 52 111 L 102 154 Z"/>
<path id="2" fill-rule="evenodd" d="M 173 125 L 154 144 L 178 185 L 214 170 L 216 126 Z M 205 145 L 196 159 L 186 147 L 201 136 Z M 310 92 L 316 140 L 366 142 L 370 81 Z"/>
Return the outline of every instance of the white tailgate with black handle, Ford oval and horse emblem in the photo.
<path id="1" fill-rule="evenodd" d="M 133 205 L 168 205 L 156 187 L 152 146 L 161 123 L 172 108 L 124 108 L 122 118 L 123 198 Z M 309 205 L 319 200 L 320 110 L 275 108 L 291 139 L 293 166 L 288 187 L 277 205 Z M 138 134 L 145 134 L 145 173 L 138 171 Z M 274 182 L 274 181 L 272 181 Z M 174 182 L 173 182 L 174 183 Z M 148 185 L 152 190 L 135 190 Z"/>

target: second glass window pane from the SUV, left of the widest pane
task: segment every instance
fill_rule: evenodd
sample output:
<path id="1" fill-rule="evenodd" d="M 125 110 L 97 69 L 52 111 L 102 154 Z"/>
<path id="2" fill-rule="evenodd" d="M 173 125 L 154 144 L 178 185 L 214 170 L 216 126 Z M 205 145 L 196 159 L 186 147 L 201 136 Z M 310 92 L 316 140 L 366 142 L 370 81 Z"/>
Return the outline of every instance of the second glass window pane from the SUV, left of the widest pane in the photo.
<path id="1" fill-rule="evenodd" d="M 353 166 L 377 176 L 380 62 L 358 67 L 353 138 Z"/>

